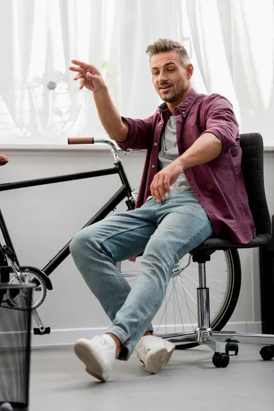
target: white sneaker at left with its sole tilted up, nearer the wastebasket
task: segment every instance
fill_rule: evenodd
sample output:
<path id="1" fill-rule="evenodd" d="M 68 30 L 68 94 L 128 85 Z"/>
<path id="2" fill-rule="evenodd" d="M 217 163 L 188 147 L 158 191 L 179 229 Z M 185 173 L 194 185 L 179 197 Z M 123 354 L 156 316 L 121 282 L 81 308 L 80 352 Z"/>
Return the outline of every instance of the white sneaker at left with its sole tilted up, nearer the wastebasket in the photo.
<path id="1" fill-rule="evenodd" d="M 116 356 L 116 344 L 111 336 L 102 334 L 92 340 L 80 338 L 74 345 L 74 351 L 86 365 L 87 373 L 102 382 L 108 380 Z"/>

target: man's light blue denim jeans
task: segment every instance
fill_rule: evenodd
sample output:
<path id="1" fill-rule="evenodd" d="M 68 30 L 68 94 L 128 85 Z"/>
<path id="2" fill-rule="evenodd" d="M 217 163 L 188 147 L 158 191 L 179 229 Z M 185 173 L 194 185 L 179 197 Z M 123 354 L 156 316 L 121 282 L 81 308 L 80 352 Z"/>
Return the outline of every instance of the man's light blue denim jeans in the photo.
<path id="1" fill-rule="evenodd" d="M 150 199 L 141 208 L 122 212 L 82 229 L 71 242 L 73 260 L 103 310 L 108 328 L 123 345 L 119 360 L 128 360 L 164 301 L 173 266 L 212 236 L 208 216 L 192 193 Z M 134 287 L 114 266 L 143 252 Z"/>

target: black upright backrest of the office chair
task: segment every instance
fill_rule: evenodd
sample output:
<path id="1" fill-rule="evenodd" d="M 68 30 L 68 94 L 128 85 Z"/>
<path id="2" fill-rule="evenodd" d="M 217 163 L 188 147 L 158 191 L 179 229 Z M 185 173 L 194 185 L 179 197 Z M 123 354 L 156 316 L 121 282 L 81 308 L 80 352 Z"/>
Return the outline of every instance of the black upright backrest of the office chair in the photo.
<path id="1" fill-rule="evenodd" d="M 258 133 L 240 134 L 242 174 L 257 235 L 271 238 L 271 219 L 264 191 L 264 144 Z"/>

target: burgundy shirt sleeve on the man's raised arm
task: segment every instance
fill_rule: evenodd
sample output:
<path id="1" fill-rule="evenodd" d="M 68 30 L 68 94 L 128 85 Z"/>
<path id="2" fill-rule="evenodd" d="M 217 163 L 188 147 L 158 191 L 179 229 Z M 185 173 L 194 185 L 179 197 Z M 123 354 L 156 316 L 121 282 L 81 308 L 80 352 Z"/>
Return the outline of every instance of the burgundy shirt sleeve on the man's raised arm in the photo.
<path id="1" fill-rule="evenodd" d="M 147 149 L 149 141 L 153 137 L 153 116 L 147 119 L 129 119 L 129 117 L 121 117 L 122 121 L 126 121 L 129 126 L 127 139 L 123 142 L 117 142 L 122 150 L 126 149 Z"/>

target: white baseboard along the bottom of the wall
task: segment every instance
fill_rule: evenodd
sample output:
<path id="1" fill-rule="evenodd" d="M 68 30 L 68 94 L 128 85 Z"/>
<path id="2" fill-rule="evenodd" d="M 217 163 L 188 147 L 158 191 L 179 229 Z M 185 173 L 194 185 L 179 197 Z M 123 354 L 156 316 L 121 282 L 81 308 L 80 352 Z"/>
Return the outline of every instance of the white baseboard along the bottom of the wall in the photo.
<path id="1" fill-rule="evenodd" d="M 52 329 L 50 334 L 45 334 L 43 336 L 32 334 L 32 347 L 39 346 L 49 346 L 49 345 L 71 345 L 74 344 L 79 338 L 89 338 L 91 339 L 97 334 L 103 334 L 107 327 L 98 328 L 75 328 L 75 329 Z M 190 326 L 185 327 L 186 332 L 190 332 L 192 328 Z M 174 332 L 174 327 L 167 327 L 167 332 Z M 234 331 L 234 332 L 250 332 L 261 334 L 262 333 L 262 323 L 227 323 L 224 331 Z M 158 329 L 155 334 L 162 334 L 165 332 L 165 327 Z M 181 327 L 177 327 L 177 332 L 182 332 Z"/>

